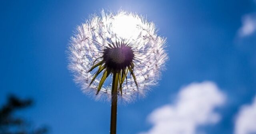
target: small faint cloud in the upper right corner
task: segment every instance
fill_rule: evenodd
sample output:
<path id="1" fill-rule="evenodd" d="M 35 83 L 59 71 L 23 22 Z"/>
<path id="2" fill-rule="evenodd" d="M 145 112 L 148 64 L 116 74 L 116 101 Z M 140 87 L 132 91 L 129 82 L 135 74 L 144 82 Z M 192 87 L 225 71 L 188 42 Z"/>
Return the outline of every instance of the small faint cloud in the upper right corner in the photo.
<path id="1" fill-rule="evenodd" d="M 242 18 L 242 27 L 239 30 L 240 37 L 251 35 L 256 31 L 256 17 L 246 15 Z"/>

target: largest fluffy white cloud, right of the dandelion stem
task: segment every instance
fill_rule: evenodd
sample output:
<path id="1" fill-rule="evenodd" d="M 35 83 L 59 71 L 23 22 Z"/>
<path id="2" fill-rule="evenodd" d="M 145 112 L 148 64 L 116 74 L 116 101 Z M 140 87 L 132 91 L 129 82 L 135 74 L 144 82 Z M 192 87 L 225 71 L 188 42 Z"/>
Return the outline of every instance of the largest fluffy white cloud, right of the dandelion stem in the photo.
<path id="1" fill-rule="evenodd" d="M 226 96 L 212 82 L 192 83 L 181 89 L 175 104 L 154 110 L 148 120 L 153 124 L 141 134 L 198 134 L 198 126 L 215 124 L 220 115 L 214 109 Z"/>

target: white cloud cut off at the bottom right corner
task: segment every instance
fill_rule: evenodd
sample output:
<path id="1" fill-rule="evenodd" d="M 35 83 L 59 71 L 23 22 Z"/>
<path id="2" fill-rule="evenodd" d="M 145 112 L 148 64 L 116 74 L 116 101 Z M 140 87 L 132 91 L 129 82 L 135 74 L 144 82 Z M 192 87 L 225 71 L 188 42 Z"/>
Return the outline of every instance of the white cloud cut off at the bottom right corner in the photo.
<path id="1" fill-rule="evenodd" d="M 242 106 L 235 123 L 235 134 L 256 134 L 256 97 L 251 105 Z"/>

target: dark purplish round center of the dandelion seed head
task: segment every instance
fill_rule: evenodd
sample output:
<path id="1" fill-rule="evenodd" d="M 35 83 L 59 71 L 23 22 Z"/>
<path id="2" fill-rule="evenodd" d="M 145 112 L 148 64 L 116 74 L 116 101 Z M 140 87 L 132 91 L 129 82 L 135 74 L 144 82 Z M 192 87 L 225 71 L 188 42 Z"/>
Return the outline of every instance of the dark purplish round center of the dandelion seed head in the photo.
<path id="1" fill-rule="evenodd" d="M 108 69 L 119 72 L 130 66 L 134 59 L 132 48 L 125 45 L 107 47 L 103 52 L 103 60 Z"/>

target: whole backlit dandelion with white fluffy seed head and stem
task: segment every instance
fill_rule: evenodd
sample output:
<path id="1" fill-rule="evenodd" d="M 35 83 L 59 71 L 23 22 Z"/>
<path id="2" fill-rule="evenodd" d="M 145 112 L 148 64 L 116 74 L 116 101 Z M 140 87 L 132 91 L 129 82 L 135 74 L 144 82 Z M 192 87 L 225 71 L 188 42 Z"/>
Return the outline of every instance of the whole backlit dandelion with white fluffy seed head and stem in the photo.
<path id="1" fill-rule="evenodd" d="M 117 100 L 134 101 L 157 85 L 168 59 L 165 43 L 154 23 L 124 11 L 92 15 L 71 37 L 68 67 L 84 93 L 111 101 L 111 134 Z"/>

